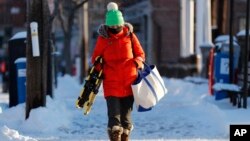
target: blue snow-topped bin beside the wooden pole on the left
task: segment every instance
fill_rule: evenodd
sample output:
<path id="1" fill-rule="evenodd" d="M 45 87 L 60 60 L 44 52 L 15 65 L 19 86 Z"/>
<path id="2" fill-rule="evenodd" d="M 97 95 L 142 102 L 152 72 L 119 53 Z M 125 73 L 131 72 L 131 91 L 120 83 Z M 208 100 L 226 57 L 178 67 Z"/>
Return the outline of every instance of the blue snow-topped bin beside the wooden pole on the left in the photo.
<path id="1" fill-rule="evenodd" d="M 17 97 L 19 104 L 24 103 L 26 99 L 26 58 L 18 58 L 15 64 L 17 68 Z"/>

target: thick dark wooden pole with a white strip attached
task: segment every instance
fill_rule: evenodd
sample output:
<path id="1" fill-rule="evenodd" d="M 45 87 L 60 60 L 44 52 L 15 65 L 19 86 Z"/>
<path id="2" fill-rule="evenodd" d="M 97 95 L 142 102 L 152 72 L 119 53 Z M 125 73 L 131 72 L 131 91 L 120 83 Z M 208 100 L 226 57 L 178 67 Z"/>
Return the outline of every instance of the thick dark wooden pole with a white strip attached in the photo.
<path id="1" fill-rule="evenodd" d="M 49 35 L 49 10 L 47 1 L 27 1 L 27 96 L 26 96 L 26 119 L 31 109 L 46 105 L 47 93 L 47 66 L 48 66 L 48 35 Z M 47 11 L 47 12 L 46 12 Z M 40 56 L 33 57 L 30 23 L 38 23 L 38 37 Z"/>

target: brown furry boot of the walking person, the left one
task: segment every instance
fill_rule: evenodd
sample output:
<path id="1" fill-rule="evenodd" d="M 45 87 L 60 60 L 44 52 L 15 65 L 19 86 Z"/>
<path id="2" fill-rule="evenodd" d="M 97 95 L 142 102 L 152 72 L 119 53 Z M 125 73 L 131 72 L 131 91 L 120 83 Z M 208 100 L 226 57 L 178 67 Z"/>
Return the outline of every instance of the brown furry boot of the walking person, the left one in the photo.
<path id="1" fill-rule="evenodd" d="M 120 126 L 113 126 L 112 129 L 108 128 L 108 135 L 110 141 L 121 141 L 122 133 L 123 133 L 123 128 Z"/>

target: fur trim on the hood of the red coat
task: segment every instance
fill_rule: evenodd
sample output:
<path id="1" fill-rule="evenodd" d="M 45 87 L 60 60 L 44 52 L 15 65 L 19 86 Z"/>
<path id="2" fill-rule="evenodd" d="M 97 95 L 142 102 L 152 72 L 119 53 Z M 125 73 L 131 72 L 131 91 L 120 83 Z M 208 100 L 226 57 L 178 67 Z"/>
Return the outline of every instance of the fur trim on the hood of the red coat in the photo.
<path id="1" fill-rule="evenodd" d="M 133 33 L 133 25 L 130 23 L 124 23 L 124 27 L 128 29 L 127 36 L 130 33 Z M 109 38 L 108 34 L 108 26 L 105 24 L 101 24 L 97 30 L 97 33 L 102 36 L 103 38 Z"/>

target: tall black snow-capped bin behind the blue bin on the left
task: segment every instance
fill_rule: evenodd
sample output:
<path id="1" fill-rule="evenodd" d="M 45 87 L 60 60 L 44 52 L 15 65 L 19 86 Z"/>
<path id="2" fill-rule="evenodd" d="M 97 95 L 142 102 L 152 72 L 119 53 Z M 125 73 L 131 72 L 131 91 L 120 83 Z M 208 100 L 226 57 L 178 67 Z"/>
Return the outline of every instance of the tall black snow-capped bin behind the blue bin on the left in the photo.
<path id="1" fill-rule="evenodd" d="M 18 104 L 15 61 L 18 58 L 26 57 L 26 37 L 25 31 L 18 32 L 8 41 L 9 107 Z"/>

